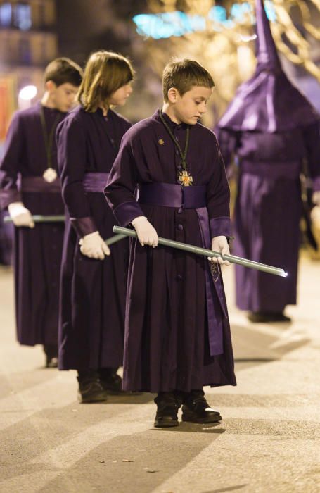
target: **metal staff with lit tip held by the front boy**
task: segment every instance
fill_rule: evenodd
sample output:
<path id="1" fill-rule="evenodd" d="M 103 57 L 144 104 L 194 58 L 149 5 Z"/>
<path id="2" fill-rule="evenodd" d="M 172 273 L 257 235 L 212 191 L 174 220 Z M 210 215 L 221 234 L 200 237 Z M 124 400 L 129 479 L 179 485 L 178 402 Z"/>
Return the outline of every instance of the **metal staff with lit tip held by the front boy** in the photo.
<path id="1" fill-rule="evenodd" d="M 127 227 L 114 226 L 113 232 L 120 233 L 121 235 L 136 237 L 136 232 L 129 230 Z M 247 258 L 237 257 L 235 255 L 222 255 L 217 251 L 212 251 L 201 248 L 200 246 L 193 246 L 186 243 L 174 242 L 172 239 L 159 238 L 158 243 L 160 245 L 170 246 L 171 248 L 189 251 L 191 254 L 204 255 L 206 257 L 221 257 L 223 260 L 227 260 L 231 263 L 238 263 L 239 266 L 262 270 L 262 272 L 266 272 L 268 274 L 280 275 L 281 277 L 287 277 L 288 275 L 288 273 L 278 267 L 267 266 L 265 263 L 255 262 L 248 260 Z"/>

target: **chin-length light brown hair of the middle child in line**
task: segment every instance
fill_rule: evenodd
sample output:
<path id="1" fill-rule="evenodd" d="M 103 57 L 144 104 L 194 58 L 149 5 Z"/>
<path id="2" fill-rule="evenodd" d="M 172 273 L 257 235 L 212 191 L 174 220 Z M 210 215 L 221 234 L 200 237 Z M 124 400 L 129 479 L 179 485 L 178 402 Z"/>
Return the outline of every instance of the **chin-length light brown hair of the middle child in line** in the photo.
<path id="1" fill-rule="evenodd" d="M 113 51 L 96 51 L 84 68 L 78 101 L 86 111 L 96 111 L 101 101 L 133 78 L 134 69 L 127 58 Z"/>

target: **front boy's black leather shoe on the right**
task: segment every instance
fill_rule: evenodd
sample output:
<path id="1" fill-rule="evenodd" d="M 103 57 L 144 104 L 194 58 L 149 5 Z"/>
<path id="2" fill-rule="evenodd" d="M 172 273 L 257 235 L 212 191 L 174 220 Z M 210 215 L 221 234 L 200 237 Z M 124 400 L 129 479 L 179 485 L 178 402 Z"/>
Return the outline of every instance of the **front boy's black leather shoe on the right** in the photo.
<path id="1" fill-rule="evenodd" d="M 219 411 L 205 400 L 203 390 L 191 390 L 182 405 L 182 421 L 191 423 L 217 423 L 222 420 Z"/>

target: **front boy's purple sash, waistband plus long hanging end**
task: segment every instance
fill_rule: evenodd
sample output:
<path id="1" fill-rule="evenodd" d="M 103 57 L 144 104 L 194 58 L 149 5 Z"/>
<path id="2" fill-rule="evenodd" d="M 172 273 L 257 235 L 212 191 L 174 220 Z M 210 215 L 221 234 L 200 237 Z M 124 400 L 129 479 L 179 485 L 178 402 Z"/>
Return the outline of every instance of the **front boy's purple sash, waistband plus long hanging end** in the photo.
<path id="1" fill-rule="evenodd" d="M 181 187 L 181 185 L 172 185 L 171 183 L 147 183 L 139 185 L 138 202 L 151 206 L 196 209 L 202 246 L 211 249 L 206 193 L 207 187 L 205 185 Z M 217 296 L 215 296 L 215 292 Z M 221 279 L 213 282 L 207 259 L 205 259 L 205 294 L 210 355 L 217 356 L 224 352 L 223 321 L 220 316 L 220 307 L 224 317 L 228 318 L 228 314 Z"/>

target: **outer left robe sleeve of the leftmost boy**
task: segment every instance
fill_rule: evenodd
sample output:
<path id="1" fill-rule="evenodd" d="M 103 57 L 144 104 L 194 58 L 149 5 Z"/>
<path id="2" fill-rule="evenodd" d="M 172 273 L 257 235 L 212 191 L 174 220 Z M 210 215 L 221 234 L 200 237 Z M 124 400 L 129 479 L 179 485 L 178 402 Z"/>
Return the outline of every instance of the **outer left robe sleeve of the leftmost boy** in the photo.
<path id="1" fill-rule="evenodd" d="M 19 113 L 15 113 L 8 129 L 4 156 L 0 166 L 0 207 L 22 201 L 17 188 L 18 173 L 23 156 L 23 125 Z"/>

